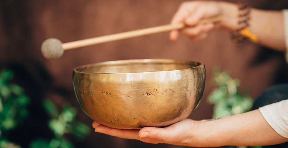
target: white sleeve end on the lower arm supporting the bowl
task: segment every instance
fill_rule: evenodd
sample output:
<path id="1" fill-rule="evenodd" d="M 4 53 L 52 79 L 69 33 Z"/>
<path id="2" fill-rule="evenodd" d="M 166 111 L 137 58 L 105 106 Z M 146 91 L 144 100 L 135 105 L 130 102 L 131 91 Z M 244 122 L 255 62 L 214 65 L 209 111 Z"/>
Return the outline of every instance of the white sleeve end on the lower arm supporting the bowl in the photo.
<path id="1" fill-rule="evenodd" d="M 288 99 L 260 107 L 259 110 L 279 135 L 288 138 Z"/>

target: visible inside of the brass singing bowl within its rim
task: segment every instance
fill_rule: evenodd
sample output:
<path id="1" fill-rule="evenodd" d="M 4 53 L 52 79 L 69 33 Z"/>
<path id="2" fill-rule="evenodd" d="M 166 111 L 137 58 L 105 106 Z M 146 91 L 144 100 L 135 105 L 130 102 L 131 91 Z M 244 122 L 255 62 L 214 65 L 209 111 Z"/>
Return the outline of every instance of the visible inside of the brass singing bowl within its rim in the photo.
<path id="1" fill-rule="evenodd" d="M 200 65 L 201 63 L 199 62 L 191 61 L 137 59 L 85 65 L 75 68 L 75 71 L 82 73 L 143 73 L 190 69 Z"/>

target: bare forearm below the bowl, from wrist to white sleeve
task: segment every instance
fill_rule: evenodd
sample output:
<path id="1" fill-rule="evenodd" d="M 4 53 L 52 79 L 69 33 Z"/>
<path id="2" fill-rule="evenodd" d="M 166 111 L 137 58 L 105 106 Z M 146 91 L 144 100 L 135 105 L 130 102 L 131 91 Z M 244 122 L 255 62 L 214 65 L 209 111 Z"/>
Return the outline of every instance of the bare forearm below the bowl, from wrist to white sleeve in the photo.
<path id="1" fill-rule="evenodd" d="M 269 126 L 259 110 L 198 124 L 199 147 L 261 146 L 287 142 Z"/>

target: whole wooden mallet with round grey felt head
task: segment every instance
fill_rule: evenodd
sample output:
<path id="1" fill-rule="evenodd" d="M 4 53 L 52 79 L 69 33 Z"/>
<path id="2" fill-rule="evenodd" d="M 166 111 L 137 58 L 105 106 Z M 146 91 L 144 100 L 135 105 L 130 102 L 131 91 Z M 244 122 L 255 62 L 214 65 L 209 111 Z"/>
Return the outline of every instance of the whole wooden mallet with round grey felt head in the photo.
<path id="1" fill-rule="evenodd" d="M 222 20 L 221 16 L 212 17 L 209 19 L 201 20 L 198 24 L 206 24 L 211 22 L 219 22 Z M 90 46 L 95 44 L 106 43 L 110 41 L 118 41 L 126 38 L 133 38 L 138 36 L 145 36 L 153 33 L 161 33 L 170 30 L 178 30 L 185 28 L 185 24 L 169 24 L 169 25 L 161 25 L 152 28 L 145 28 L 134 31 L 127 31 L 123 33 L 116 33 L 107 36 L 99 36 L 95 38 L 87 38 L 78 41 L 72 41 L 67 43 L 62 43 L 60 40 L 56 38 L 49 38 L 42 43 L 41 52 L 42 55 L 47 59 L 57 59 L 61 57 L 65 50 L 75 49 L 84 46 Z"/>

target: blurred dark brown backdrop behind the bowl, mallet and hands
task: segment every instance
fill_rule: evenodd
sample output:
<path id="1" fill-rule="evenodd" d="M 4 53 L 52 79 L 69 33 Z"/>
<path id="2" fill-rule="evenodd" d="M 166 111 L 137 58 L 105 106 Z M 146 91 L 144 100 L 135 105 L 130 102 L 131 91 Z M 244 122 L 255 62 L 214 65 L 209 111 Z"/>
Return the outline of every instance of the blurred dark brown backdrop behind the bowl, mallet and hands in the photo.
<path id="1" fill-rule="evenodd" d="M 206 98 L 213 89 L 212 70 L 220 67 L 239 78 L 240 88 L 248 88 L 253 98 L 276 83 L 288 82 L 287 65 L 282 53 L 253 43 L 237 47 L 230 41 L 229 32 L 217 30 L 200 42 L 181 36 L 170 42 L 168 33 L 116 41 L 67 51 L 61 59 L 47 60 L 40 46 L 47 38 L 62 42 L 74 41 L 111 33 L 135 30 L 170 22 L 183 0 L 1 0 L 0 1 L 0 66 L 16 71 L 17 82 L 32 99 L 34 118 L 15 132 L 12 138 L 28 140 L 38 132 L 49 133 L 41 100 L 46 96 L 59 106 L 70 101 L 78 107 L 71 81 L 74 67 L 95 62 L 119 59 L 171 58 L 193 60 L 206 66 L 206 86 L 203 100 L 190 116 L 195 120 L 211 118 L 212 106 Z M 287 0 L 243 0 L 260 9 L 288 8 Z M 286 77 L 286 78 L 285 78 Z M 37 117 L 37 118 L 35 118 Z M 79 109 L 77 117 L 87 124 L 92 120 Z M 35 131 L 27 129 L 35 129 Z M 93 129 L 91 128 L 91 131 Z M 72 138 L 73 140 L 73 138 Z M 180 147 L 166 144 L 145 144 L 91 132 L 76 147 Z"/>

